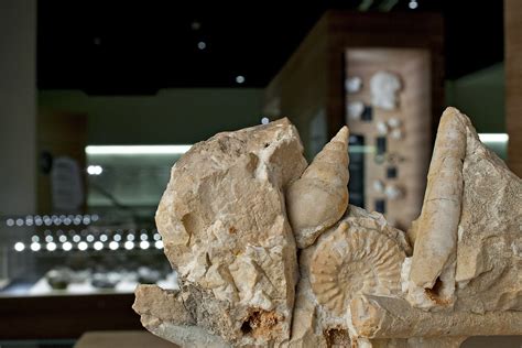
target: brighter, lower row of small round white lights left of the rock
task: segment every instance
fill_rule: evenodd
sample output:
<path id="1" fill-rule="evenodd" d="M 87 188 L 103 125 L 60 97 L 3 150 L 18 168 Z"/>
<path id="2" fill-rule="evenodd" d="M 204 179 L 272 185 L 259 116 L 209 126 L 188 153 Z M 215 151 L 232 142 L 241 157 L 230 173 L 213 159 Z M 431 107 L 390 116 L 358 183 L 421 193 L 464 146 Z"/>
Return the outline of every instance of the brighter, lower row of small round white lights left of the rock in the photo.
<path id="1" fill-rule="evenodd" d="M 73 242 L 67 240 L 67 237 L 62 235 L 58 237 L 58 242 L 61 243 L 61 249 L 63 251 L 70 251 L 76 246 L 76 249 L 79 251 L 86 251 L 89 249 L 89 244 L 91 244 L 94 250 L 100 251 L 104 249 L 110 250 L 118 250 L 122 242 L 122 246 L 126 250 L 133 250 L 134 248 L 140 248 L 142 250 L 146 250 L 151 247 L 151 242 L 149 241 L 149 236 L 142 233 L 140 236 L 140 242 L 137 244 L 134 242 L 134 235 L 128 235 L 127 240 L 122 241 L 120 235 L 115 235 L 112 240 L 109 241 L 107 235 L 101 235 L 99 240 L 95 241 L 95 236 L 88 235 L 85 240 L 81 240 L 81 237 L 78 235 L 73 236 Z M 153 236 L 153 244 L 156 249 L 163 249 L 163 241 L 161 240 L 160 233 L 154 233 Z M 39 236 L 31 237 L 31 243 L 25 246 L 25 243 L 19 241 L 14 243 L 14 250 L 18 252 L 24 251 L 26 247 L 32 251 L 41 251 L 44 243 L 40 242 Z M 56 251 L 58 249 L 58 244 L 54 241 L 53 236 L 45 237 L 45 250 L 47 251 Z"/>

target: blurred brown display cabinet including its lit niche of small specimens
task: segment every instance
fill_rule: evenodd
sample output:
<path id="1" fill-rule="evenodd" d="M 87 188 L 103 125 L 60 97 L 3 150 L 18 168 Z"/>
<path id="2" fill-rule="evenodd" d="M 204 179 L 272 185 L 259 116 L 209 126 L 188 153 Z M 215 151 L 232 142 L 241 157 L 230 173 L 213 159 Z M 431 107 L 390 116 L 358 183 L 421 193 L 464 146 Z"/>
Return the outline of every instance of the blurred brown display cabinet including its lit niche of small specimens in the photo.
<path id="1" fill-rule="evenodd" d="M 268 86 L 264 112 L 296 124 L 308 160 L 347 124 L 350 203 L 407 228 L 442 112 L 442 47 L 434 13 L 327 11 Z"/>

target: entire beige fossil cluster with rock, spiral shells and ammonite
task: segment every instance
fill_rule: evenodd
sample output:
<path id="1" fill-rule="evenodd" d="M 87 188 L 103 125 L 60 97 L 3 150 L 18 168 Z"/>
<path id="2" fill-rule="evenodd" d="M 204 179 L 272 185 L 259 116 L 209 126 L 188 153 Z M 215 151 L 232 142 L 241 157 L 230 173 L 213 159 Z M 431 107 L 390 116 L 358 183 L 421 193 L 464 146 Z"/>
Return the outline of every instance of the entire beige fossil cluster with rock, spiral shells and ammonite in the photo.
<path id="1" fill-rule="evenodd" d="M 348 204 L 344 127 L 307 165 L 289 120 L 222 132 L 176 162 L 156 213 L 180 289 L 134 311 L 183 347 L 458 347 L 522 335 L 522 182 L 444 112 L 404 232 Z"/>

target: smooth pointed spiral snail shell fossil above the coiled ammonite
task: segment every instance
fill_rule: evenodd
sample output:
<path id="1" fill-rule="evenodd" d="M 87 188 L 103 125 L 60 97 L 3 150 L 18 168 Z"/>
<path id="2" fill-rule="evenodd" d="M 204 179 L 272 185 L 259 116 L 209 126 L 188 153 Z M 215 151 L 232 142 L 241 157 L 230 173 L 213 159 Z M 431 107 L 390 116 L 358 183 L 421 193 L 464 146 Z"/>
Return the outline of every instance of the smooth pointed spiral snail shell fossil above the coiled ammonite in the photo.
<path id="1" fill-rule="evenodd" d="M 286 211 L 301 249 L 313 244 L 348 207 L 348 134 L 342 127 L 286 191 Z"/>

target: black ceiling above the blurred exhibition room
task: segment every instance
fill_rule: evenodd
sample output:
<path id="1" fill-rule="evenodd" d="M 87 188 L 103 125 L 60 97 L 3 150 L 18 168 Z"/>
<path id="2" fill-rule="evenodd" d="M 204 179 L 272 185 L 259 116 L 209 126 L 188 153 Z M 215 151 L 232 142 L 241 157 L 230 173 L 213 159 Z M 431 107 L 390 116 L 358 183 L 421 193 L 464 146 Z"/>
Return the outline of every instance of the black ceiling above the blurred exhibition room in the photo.
<path id="1" fill-rule="evenodd" d="M 443 13 L 449 79 L 503 61 L 502 1 L 410 1 L 40 0 L 37 84 L 90 94 L 264 87 L 324 11 L 365 6 Z"/>

